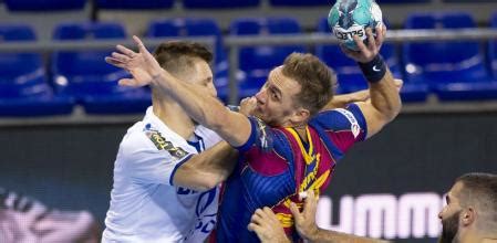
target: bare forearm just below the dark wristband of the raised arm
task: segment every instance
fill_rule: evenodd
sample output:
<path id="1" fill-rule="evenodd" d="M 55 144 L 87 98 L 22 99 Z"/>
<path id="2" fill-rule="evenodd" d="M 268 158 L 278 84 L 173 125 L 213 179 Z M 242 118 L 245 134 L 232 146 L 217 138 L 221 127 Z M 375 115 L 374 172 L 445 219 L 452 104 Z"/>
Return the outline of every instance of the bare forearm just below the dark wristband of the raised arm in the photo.
<path id="1" fill-rule="evenodd" d="M 394 119 L 401 112 L 402 102 L 390 70 L 380 82 L 370 83 L 372 106 L 387 122 Z"/>

